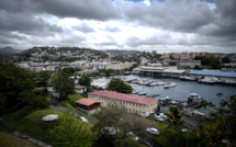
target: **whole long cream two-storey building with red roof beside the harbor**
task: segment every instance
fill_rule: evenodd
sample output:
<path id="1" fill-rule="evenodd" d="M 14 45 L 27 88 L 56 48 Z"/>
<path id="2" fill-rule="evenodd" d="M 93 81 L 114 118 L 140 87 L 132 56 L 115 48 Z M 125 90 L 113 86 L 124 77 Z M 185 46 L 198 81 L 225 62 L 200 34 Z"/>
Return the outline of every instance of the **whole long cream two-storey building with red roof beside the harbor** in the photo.
<path id="1" fill-rule="evenodd" d="M 124 94 L 115 91 L 93 91 L 88 94 L 89 99 L 101 102 L 101 106 L 124 109 L 128 113 L 136 113 L 141 116 L 148 116 L 155 113 L 158 100 L 139 95 Z"/>

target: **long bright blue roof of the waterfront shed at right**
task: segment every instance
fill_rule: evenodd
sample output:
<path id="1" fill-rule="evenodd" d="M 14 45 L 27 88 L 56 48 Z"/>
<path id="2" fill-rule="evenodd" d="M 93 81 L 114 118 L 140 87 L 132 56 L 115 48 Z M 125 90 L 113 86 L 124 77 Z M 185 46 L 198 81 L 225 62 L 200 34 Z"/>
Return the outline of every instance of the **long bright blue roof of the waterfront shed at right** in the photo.
<path id="1" fill-rule="evenodd" d="M 192 70 L 192 75 L 202 75 L 202 76 L 217 76 L 217 77 L 233 77 L 236 78 L 236 72 L 222 72 L 222 71 L 204 71 L 204 70 Z"/>

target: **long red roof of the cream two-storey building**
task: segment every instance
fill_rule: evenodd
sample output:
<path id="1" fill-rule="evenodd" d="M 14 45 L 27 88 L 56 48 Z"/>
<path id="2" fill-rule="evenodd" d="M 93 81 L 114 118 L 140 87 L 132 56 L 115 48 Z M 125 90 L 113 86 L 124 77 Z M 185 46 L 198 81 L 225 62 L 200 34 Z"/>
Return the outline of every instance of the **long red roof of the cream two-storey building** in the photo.
<path id="1" fill-rule="evenodd" d="M 89 94 L 101 95 L 101 97 L 105 97 L 105 98 L 112 98 L 112 99 L 116 99 L 116 100 L 121 100 L 121 101 L 139 103 L 139 104 L 149 104 L 156 100 L 154 98 L 124 94 L 124 93 L 117 93 L 115 91 L 108 91 L 108 90 L 94 91 L 94 92 L 90 92 Z"/>

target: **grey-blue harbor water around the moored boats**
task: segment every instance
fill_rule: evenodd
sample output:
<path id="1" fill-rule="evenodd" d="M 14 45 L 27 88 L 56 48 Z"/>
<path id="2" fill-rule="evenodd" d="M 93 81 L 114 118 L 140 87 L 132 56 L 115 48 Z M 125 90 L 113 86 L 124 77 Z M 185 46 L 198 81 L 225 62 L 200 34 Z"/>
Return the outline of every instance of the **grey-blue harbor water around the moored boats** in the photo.
<path id="1" fill-rule="evenodd" d="M 102 77 L 99 79 L 93 79 L 93 82 L 108 83 L 113 77 Z M 147 76 L 138 76 L 138 75 L 130 75 L 130 76 L 114 76 L 114 78 L 137 78 L 137 79 L 149 79 L 149 80 L 158 80 L 158 81 L 172 81 L 177 83 L 177 87 L 165 89 L 162 86 L 147 87 L 139 86 L 136 83 L 128 83 L 132 86 L 134 90 L 139 92 L 147 92 L 147 95 L 159 94 L 159 97 L 155 97 L 157 99 L 170 97 L 173 100 L 187 101 L 187 95 L 191 92 L 199 93 L 206 101 L 211 101 L 216 106 L 220 105 L 217 93 L 223 93 L 223 99 L 229 98 L 231 95 L 236 95 L 236 87 L 235 86 L 225 86 L 225 84 L 206 84 L 206 83 L 198 83 L 198 81 L 182 81 L 179 79 L 172 78 L 162 78 L 162 77 L 147 77 Z M 103 84 L 105 88 L 106 84 Z M 204 109 L 200 109 L 199 111 L 207 113 Z"/>

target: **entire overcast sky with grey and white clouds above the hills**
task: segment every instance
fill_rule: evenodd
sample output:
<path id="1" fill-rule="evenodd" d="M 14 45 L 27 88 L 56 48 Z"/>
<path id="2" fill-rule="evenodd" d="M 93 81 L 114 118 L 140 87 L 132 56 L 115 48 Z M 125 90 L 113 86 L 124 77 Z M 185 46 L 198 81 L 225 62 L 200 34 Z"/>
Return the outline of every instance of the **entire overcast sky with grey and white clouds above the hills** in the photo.
<path id="1" fill-rule="evenodd" d="M 236 0 L 0 0 L 0 47 L 236 53 Z"/>

